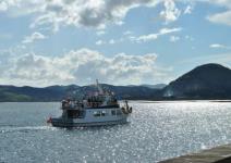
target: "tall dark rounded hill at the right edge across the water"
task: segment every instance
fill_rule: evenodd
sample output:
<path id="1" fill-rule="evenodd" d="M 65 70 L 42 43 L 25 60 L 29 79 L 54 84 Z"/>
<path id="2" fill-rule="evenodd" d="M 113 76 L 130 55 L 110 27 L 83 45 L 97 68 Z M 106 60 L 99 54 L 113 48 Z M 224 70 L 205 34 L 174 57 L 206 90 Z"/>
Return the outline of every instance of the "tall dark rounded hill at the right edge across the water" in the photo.
<path id="1" fill-rule="evenodd" d="M 231 70 L 205 64 L 170 83 L 162 90 L 171 99 L 231 99 Z"/>

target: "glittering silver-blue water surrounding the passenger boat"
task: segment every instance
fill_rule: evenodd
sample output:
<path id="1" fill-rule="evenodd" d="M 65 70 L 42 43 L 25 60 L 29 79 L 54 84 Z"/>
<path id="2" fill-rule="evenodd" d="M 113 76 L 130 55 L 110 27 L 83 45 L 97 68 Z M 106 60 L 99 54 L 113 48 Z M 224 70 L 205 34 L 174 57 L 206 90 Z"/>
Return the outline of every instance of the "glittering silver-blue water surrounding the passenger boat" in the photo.
<path id="1" fill-rule="evenodd" d="M 231 142 L 229 102 L 131 102 L 130 124 L 47 126 L 59 103 L 0 103 L 0 162 L 157 162 Z"/>

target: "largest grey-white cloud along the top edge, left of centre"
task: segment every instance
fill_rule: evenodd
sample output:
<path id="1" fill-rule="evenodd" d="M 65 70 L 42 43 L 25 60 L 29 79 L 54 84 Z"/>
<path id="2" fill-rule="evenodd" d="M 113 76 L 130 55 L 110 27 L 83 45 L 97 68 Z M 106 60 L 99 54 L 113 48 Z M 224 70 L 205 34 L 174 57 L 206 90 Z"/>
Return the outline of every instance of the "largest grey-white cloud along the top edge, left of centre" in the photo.
<path id="1" fill-rule="evenodd" d="M 156 7 L 162 0 L 2 0 L 0 10 L 11 16 L 34 14 L 31 27 L 74 25 L 105 28 L 107 23 L 123 24 L 127 11 L 137 7 Z"/>

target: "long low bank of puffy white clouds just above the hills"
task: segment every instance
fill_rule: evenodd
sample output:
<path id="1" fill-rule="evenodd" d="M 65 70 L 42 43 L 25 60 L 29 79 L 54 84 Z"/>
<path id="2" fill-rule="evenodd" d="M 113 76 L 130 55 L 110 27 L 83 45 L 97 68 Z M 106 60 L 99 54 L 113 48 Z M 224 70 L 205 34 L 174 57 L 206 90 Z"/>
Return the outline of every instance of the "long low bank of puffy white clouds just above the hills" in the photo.
<path id="1" fill-rule="evenodd" d="M 0 82 L 32 86 L 85 85 L 96 78 L 117 85 L 159 83 L 168 78 L 169 70 L 157 66 L 156 60 L 156 53 L 118 53 L 109 58 L 89 49 L 70 51 L 61 57 L 26 53 L 9 58 L 7 65 L 0 65 Z"/>

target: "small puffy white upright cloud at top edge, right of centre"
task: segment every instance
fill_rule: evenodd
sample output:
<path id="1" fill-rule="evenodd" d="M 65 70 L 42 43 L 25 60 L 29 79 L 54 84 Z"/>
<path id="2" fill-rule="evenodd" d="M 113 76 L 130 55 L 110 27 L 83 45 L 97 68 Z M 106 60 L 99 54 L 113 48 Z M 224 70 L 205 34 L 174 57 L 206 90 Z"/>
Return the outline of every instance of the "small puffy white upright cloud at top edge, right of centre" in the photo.
<path id="1" fill-rule="evenodd" d="M 160 12 L 160 18 L 165 20 L 166 23 L 177 21 L 181 15 L 181 10 L 179 10 L 173 0 L 166 0 L 165 3 L 165 11 Z"/>

